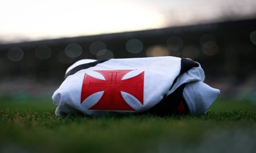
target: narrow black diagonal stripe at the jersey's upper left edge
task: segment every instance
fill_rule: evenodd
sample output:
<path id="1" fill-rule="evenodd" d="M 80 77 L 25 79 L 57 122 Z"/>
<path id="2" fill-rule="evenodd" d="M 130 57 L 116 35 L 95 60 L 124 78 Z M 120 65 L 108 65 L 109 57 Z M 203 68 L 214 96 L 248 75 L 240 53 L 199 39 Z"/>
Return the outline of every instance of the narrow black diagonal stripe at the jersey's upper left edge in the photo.
<path id="1" fill-rule="evenodd" d="M 98 61 L 95 61 L 95 62 L 84 63 L 84 64 L 81 64 L 81 65 L 78 65 L 78 66 L 74 67 L 73 69 L 71 69 L 70 71 L 68 71 L 67 74 L 65 74 L 64 80 L 65 80 L 69 75 L 72 75 L 72 74 L 77 73 L 77 71 L 84 70 L 84 69 L 88 69 L 88 68 L 90 68 L 90 67 L 96 66 L 97 64 L 106 62 L 106 61 L 108 61 L 108 60 L 109 60 L 109 59 L 101 59 L 101 60 L 98 60 Z"/>

